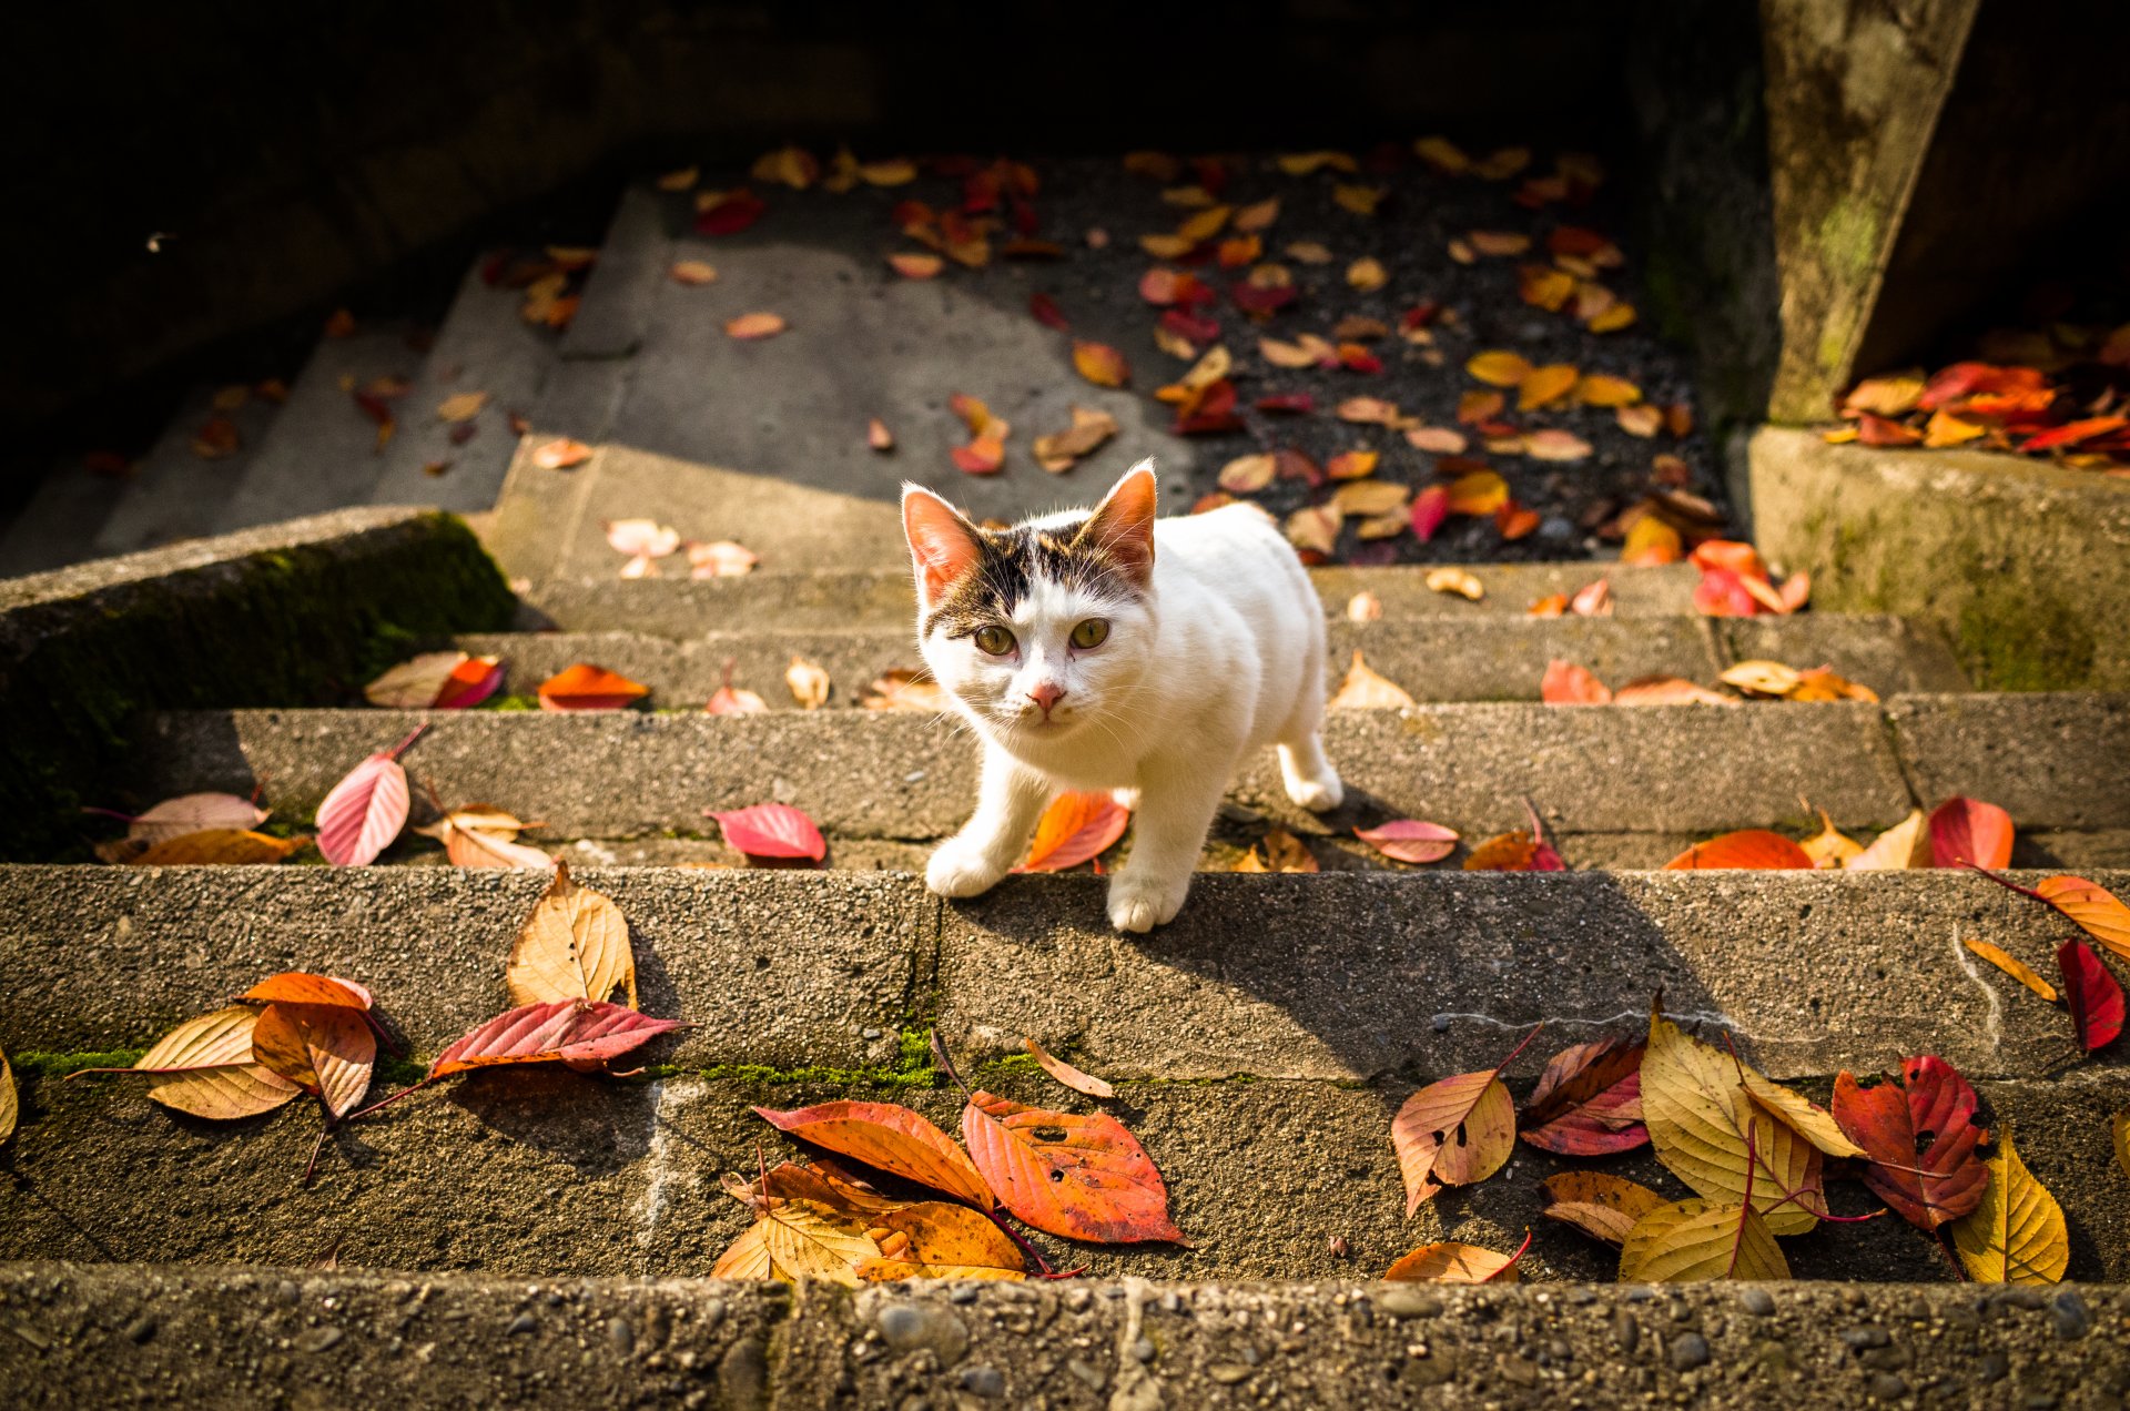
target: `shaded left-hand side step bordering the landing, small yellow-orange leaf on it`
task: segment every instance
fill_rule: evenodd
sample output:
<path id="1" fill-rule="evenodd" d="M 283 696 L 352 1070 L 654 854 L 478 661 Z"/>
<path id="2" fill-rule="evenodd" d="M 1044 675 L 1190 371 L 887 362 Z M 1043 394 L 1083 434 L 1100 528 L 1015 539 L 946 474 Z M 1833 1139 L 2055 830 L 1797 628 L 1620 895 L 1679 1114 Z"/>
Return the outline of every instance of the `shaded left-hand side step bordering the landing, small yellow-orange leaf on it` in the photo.
<path id="1" fill-rule="evenodd" d="M 400 399 L 400 426 L 386 448 L 371 488 L 373 505 L 437 505 L 473 514 L 494 507 L 518 450 L 511 418 L 539 403 L 556 358 L 556 337 L 520 318 L 520 290 L 490 286 L 488 260 L 475 260 L 458 286 L 428 362 Z M 479 416 L 449 424 L 439 403 L 458 392 L 486 392 Z M 454 439 L 473 426 L 471 439 Z M 447 467 L 435 473 L 430 467 Z"/>

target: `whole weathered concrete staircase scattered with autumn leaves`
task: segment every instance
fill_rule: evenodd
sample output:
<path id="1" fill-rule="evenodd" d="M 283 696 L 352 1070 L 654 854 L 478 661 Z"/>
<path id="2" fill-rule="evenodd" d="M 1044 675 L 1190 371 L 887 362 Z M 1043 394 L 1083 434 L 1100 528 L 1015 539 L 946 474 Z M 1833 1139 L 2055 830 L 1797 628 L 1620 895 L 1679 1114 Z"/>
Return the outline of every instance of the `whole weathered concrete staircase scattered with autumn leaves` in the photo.
<path id="1" fill-rule="evenodd" d="M 1359 648 L 1419 701 L 1333 718 L 1346 808 L 1293 812 L 1257 761 L 1216 825 L 1214 872 L 1150 938 L 1103 925 L 1091 876 L 1016 876 L 944 904 L 914 870 L 969 806 L 969 742 L 931 716 L 854 708 L 880 671 L 916 665 L 886 492 L 929 463 L 884 463 L 867 471 L 880 484 L 837 492 L 630 439 L 630 405 L 650 416 L 679 396 L 643 360 L 673 333 L 658 313 L 673 254 L 643 202 L 624 205 L 560 345 L 520 337 L 513 296 L 469 277 L 409 371 L 417 392 L 386 456 L 368 456 L 341 377 L 413 364 L 328 343 L 288 405 L 260 413 L 232 475 L 187 482 L 198 467 L 158 450 L 92 537 L 138 550 L 373 497 L 443 499 L 486 512 L 515 603 L 462 526 L 394 509 L 0 586 L 0 710 L 23 750 L 0 780 L 0 1049 L 23 1091 L 0 1149 L 0 1383 L 21 1405 L 2121 1405 L 2130 1302 L 2092 1285 L 2130 1281 L 2107 1123 L 2130 1106 L 2130 1072 L 2119 1055 L 2079 1059 L 2060 1010 L 1960 944 L 2045 968 L 2064 923 L 1964 872 L 1653 867 L 1725 829 L 1810 825 L 1823 808 L 1870 833 L 1968 793 L 2019 823 L 2017 867 L 2130 895 L 2130 697 L 1970 691 L 1936 635 L 1889 616 L 1702 618 L 1678 567 L 1472 565 L 1478 603 L 1429 593 L 1419 569 L 1316 569 L 1336 661 Z M 464 445 L 415 424 L 449 388 L 496 392 Z M 520 399 L 537 407 L 522 443 L 501 426 Z M 334 422 L 330 445 L 354 435 L 360 465 L 324 454 L 324 433 L 296 437 L 328 409 L 356 422 Z M 1167 450 L 1133 422 L 1120 463 Z M 601 448 L 541 469 L 528 452 L 556 433 Z M 428 475 L 445 456 L 454 469 Z M 986 507 L 1056 494 L 1029 475 L 984 482 Z M 166 514 L 170 499 L 185 514 Z M 624 582 L 599 524 L 637 514 L 737 537 L 765 571 Z M 1615 616 L 1525 616 L 1598 573 Z M 1346 620 L 1361 590 L 1380 620 Z M 234 627 L 126 635 L 170 601 L 185 622 Z M 202 682 L 215 642 L 230 667 Z M 505 703 L 592 661 L 650 684 L 650 708 L 358 708 L 368 671 L 447 644 L 505 659 Z M 792 654 L 829 669 L 826 710 L 788 708 Z M 1615 684 L 1825 663 L 1883 701 L 1566 710 L 1538 703 L 1551 659 Z M 703 714 L 726 663 L 775 710 Z M 643 1008 L 692 1027 L 652 1047 L 639 1078 L 486 1074 L 349 1123 L 309 1185 L 311 1108 L 213 1125 L 149 1104 L 136 1081 L 64 1081 L 277 970 L 371 985 L 411 1064 L 503 1006 L 539 876 L 447 867 L 411 836 L 360 870 L 85 861 L 83 801 L 260 789 L 268 827 L 307 829 L 332 782 L 417 718 L 417 799 L 539 818 L 541 846 L 628 914 Z M 735 865 L 703 814 L 765 799 L 822 825 L 824 870 Z M 1350 838 L 1421 816 L 1478 840 L 1523 827 L 1527 808 L 1570 872 L 1389 867 Z M 1218 872 L 1269 825 L 1301 833 L 1323 872 Z M 2017 1128 L 2087 1287 L 1955 1287 L 1940 1251 L 1891 1219 L 1787 1240 L 1798 1285 L 1619 1287 L 1608 1249 L 1540 1215 L 1538 1181 L 1566 1164 L 1531 1149 L 1404 1219 L 1387 1125 L 1410 1091 L 1495 1064 L 1542 1021 L 1506 1074 L 1521 1096 L 1546 1053 L 1636 1029 L 1657 991 L 1815 1100 L 1842 1068 L 1947 1057 Z M 865 1096 L 952 1125 L 933 1029 L 973 1081 L 1020 1100 L 1086 1106 L 1018 1057 L 1029 1036 L 1114 1081 L 1193 1245 L 1050 1240 L 1088 1268 L 1061 1285 L 701 1281 L 746 1223 L 718 1179 L 794 1151 L 748 1108 Z M 375 1091 L 411 1072 L 386 1064 Z M 1646 1151 L 1606 1170 L 1670 1189 Z M 1838 1189 L 1838 1211 L 1870 1209 Z M 1370 1283 L 1431 1238 L 1508 1249 L 1525 1230 L 1523 1285 Z"/>

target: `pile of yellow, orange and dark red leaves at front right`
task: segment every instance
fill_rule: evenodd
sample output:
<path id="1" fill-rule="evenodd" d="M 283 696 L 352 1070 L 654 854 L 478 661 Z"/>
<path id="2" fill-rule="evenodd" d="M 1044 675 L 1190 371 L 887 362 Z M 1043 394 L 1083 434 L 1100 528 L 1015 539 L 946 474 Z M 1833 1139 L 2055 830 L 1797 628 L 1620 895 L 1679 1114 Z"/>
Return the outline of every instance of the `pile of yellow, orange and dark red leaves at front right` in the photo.
<path id="1" fill-rule="evenodd" d="M 1544 1181 L 1544 1213 L 1617 1245 L 1623 1281 L 1789 1279 L 1781 1238 L 1877 1217 L 1830 1209 L 1828 1181 L 1838 1174 L 1938 1240 L 1970 1279 L 2055 1283 L 2070 1264 L 2062 1206 L 2019 1159 L 2011 1132 L 1983 1125 L 1975 1089 L 1940 1057 L 1900 1059 L 1883 1078 L 1845 1070 L 1832 1108 L 1821 1108 L 1657 1006 L 1642 1040 L 1600 1038 L 1553 1055 L 1519 1115 L 1502 1070 L 1523 1044 L 1495 1068 L 1423 1087 L 1397 1110 L 1391 1145 L 1408 1215 L 1444 1187 L 1493 1177 L 1519 1136 L 1570 1157 L 1651 1145 L 1691 1196 L 1602 1170 Z M 2124 1121 L 2115 1119 L 2117 1142 Z M 1514 1281 L 1521 1253 L 1444 1240 L 1384 1277 Z"/>

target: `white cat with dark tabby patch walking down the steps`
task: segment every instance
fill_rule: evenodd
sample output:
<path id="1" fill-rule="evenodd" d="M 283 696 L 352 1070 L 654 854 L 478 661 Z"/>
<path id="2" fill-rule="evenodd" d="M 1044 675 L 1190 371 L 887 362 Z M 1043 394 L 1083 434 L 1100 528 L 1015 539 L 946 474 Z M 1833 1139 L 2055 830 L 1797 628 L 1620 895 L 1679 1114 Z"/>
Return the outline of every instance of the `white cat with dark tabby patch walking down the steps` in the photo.
<path id="1" fill-rule="evenodd" d="M 1287 795 L 1338 808 L 1323 750 L 1325 618 L 1255 505 L 1154 520 L 1142 460 L 1091 514 L 978 529 L 903 486 L 924 663 L 984 742 L 976 814 L 924 870 L 946 897 L 990 889 L 1065 789 L 1137 791 L 1110 923 L 1148 931 L 1191 891 L 1238 763 L 1280 748 Z"/>

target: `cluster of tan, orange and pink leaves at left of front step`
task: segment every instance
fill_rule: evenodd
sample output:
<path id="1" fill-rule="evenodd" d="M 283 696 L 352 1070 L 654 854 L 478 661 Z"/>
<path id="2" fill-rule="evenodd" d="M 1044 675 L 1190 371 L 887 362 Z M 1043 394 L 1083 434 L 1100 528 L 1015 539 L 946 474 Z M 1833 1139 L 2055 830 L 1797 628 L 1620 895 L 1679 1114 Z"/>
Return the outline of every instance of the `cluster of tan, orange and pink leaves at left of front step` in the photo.
<path id="1" fill-rule="evenodd" d="M 324 1110 L 324 1145 L 337 1123 L 460 1072 L 518 1064 L 611 1072 L 616 1057 L 686 1027 L 679 1019 L 637 1010 L 626 917 L 611 897 L 579 887 L 562 863 L 518 929 L 503 985 L 513 1008 L 449 1044 L 420 1083 L 360 1110 L 377 1044 L 394 1053 L 398 1044 L 377 1019 L 366 987 L 300 970 L 268 976 L 230 1004 L 187 1019 L 130 1068 L 79 1072 L 149 1074 L 153 1102 L 209 1121 L 258 1117 L 309 1093 Z M 613 1002 L 616 993 L 626 1002 Z"/>

